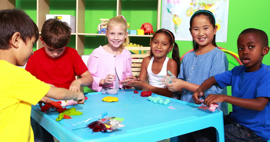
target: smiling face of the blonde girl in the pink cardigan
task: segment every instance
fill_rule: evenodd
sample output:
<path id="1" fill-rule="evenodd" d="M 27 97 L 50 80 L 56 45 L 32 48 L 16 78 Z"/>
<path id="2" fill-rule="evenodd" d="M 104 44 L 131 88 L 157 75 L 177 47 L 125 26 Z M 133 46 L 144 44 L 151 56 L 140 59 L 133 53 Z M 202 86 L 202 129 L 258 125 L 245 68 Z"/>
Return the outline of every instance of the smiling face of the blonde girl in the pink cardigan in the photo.
<path id="1" fill-rule="evenodd" d="M 123 26 L 112 25 L 106 31 L 109 46 L 113 48 L 120 48 L 128 36 Z"/>

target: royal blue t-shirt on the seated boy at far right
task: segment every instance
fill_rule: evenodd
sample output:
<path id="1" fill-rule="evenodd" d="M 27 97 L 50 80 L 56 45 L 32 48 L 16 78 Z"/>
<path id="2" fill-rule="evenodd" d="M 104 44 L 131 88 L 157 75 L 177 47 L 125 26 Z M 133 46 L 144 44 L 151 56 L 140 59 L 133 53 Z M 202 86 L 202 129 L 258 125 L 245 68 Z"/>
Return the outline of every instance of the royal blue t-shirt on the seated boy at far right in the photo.
<path id="1" fill-rule="evenodd" d="M 270 66 L 261 64 L 261 68 L 255 72 L 245 72 L 246 68 L 244 65 L 236 66 L 230 71 L 215 75 L 215 79 L 221 87 L 231 86 L 234 97 L 270 97 Z M 270 139 L 270 101 L 263 111 L 232 106 L 231 117 L 235 122 L 253 130 L 265 141 Z"/>

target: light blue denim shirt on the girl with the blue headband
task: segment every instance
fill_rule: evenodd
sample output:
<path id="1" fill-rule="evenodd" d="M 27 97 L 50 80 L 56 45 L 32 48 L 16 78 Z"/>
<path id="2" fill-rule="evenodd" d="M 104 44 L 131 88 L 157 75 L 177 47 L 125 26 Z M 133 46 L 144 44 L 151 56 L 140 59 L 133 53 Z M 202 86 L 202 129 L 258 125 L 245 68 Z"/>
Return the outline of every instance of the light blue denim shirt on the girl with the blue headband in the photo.
<path id="1" fill-rule="evenodd" d="M 208 78 L 228 71 L 228 59 L 223 51 L 217 47 L 205 54 L 196 55 L 195 51 L 185 55 L 180 65 L 179 79 L 189 83 L 201 85 Z M 207 97 L 209 94 L 224 94 L 227 95 L 227 88 L 221 88 L 219 85 L 212 86 L 204 92 Z M 193 92 L 186 89 L 182 90 L 181 100 L 194 104 L 192 99 Z M 228 114 L 228 104 L 218 103 L 224 115 Z"/>

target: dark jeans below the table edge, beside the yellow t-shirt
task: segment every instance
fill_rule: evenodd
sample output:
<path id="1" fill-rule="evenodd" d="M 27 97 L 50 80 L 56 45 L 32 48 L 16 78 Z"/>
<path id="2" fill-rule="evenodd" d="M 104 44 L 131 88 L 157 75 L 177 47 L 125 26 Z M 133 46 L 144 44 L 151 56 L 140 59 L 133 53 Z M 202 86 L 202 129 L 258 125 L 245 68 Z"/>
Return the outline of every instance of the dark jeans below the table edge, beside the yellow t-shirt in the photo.
<path id="1" fill-rule="evenodd" d="M 54 142 L 53 135 L 39 125 L 32 117 L 31 126 L 34 132 L 34 142 Z"/>

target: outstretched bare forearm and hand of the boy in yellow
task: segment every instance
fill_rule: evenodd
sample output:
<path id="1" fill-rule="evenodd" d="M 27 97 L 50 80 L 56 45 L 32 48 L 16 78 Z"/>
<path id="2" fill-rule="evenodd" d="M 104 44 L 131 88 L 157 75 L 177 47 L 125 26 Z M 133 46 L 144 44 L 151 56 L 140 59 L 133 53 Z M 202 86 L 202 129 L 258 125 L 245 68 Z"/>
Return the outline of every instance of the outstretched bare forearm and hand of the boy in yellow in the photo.
<path id="1" fill-rule="evenodd" d="M 78 101 L 78 104 L 82 104 L 85 98 L 80 91 L 74 92 L 65 88 L 56 88 L 53 86 L 50 87 L 50 90 L 45 96 L 56 100 L 74 100 Z"/>

